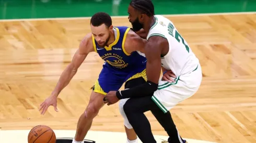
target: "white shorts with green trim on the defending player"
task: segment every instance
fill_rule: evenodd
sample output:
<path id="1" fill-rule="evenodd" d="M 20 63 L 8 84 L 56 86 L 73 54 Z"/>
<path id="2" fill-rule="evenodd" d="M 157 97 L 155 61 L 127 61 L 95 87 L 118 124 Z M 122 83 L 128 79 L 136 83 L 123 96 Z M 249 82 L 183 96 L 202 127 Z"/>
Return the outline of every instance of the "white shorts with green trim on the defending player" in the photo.
<path id="1" fill-rule="evenodd" d="M 159 81 L 158 89 L 152 100 L 164 112 L 168 112 L 179 102 L 191 97 L 199 89 L 202 81 L 202 69 L 199 66 L 191 73 L 180 75 L 175 82 Z"/>

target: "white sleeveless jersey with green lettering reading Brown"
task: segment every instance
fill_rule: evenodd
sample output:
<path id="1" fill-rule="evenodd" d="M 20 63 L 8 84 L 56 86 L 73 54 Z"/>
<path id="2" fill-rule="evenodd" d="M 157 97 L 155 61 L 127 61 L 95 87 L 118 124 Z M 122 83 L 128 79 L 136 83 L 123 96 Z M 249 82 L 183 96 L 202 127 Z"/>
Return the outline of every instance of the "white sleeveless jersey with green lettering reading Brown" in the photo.
<path id="1" fill-rule="evenodd" d="M 155 35 L 168 40 L 169 51 L 164 57 L 161 56 L 162 67 L 171 70 L 176 76 L 195 70 L 199 65 L 199 59 L 196 58 L 188 43 L 174 27 L 174 24 L 160 15 L 156 15 L 155 19 L 156 21 L 147 35 L 147 40 L 150 36 Z"/>

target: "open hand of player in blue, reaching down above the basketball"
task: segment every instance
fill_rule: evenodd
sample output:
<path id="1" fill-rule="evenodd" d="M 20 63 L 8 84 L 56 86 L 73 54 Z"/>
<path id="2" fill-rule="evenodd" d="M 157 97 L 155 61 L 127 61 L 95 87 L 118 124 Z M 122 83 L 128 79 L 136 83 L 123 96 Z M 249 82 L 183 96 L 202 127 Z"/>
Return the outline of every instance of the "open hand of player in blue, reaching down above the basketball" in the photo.
<path id="1" fill-rule="evenodd" d="M 57 109 L 57 96 L 51 95 L 50 97 L 46 98 L 40 105 L 39 111 L 41 111 L 41 114 L 43 115 L 49 106 L 53 106 L 54 110 L 56 112 L 59 112 Z"/>

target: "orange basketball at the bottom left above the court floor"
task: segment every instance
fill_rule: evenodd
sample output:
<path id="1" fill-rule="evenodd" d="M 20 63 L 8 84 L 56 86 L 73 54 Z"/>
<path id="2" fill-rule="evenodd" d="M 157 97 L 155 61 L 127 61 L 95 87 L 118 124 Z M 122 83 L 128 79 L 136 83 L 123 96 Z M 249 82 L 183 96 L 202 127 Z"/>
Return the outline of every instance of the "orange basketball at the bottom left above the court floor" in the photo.
<path id="1" fill-rule="evenodd" d="M 55 143 L 56 136 L 49 126 L 38 125 L 28 134 L 28 143 Z"/>

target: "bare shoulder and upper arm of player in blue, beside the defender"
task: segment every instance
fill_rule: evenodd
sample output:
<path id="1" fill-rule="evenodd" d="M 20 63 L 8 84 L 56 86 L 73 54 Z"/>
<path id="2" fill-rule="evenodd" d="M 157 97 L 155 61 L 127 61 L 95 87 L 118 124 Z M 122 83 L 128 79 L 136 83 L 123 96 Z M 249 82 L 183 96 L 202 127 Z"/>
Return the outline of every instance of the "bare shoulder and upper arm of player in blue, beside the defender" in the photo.
<path id="1" fill-rule="evenodd" d="M 130 30 L 126 35 L 124 48 L 128 54 L 131 54 L 133 51 L 136 51 L 136 50 L 141 51 L 142 53 L 145 53 L 144 47 L 146 43 L 147 43 L 147 40 L 141 38 L 134 31 Z"/>

